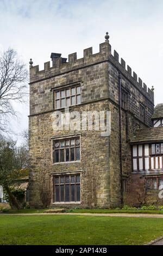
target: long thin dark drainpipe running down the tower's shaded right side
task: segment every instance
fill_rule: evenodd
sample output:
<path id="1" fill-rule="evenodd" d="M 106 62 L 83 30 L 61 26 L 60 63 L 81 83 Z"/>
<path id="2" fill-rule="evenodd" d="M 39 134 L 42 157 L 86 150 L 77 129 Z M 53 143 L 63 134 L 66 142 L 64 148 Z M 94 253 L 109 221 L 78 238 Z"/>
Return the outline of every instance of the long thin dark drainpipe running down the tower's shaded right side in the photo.
<path id="1" fill-rule="evenodd" d="M 119 109 L 119 120 L 120 120 L 120 179 L 121 179 L 121 204 L 123 204 L 123 180 L 122 180 L 122 124 L 121 124 L 121 74 L 119 73 L 119 87 L 120 87 L 120 109 Z"/>

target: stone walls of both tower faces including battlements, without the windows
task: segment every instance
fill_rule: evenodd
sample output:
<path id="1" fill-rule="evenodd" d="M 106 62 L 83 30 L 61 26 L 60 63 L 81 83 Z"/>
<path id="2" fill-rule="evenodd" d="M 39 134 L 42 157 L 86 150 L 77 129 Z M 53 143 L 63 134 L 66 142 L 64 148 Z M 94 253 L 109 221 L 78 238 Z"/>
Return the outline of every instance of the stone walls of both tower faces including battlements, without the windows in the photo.
<path id="1" fill-rule="evenodd" d="M 136 127 L 151 126 L 154 95 L 147 90 L 135 72 L 121 59 L 106 41 L 99 46 L 99 53 L 92 48 L 84 50 L 84 58 L 77 54 L 68 56 L 68 63 L 61 58 L 45 63 L 45 69 L 30 67 L 30 116 L 29 116 L 29 200 L 31 206 L 41 206 L 39 195 L 40 173 L 48 174 L 52 187 L 52 173 L 79 171 L 81 173 L 80 207 L 115 207 L 121 204 L 120 125 L 119 125 L 119 72 L 122 88 L 129 95 L 128 109 L 122 109 L 122 170 L 124 177 L 131 173 L 130 138 Z M 99 131 L 53 131 L 53 89 L 68 84 L 81 84 L 82 102 L 70 111 L 111 111 L 111 135 L 101 137 Z M 146 121 L 140 120 L 140 103 L 146 108 Z M 63 109 L 60 109 L 61 111 Z M 81 160 L 73 163 L 52 164 L 52 136 L 80 133 Z M 67 205 L 72 207 L 74 205 Z M 78 205 L 79 206 L 79 205 Z"/>

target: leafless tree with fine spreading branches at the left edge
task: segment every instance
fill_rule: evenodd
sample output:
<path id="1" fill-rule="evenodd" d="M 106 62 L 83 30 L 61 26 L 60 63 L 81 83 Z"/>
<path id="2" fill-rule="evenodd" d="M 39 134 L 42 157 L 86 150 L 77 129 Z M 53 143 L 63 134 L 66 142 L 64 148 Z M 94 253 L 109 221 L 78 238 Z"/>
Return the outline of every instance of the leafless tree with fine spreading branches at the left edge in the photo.
<path id="1" fill-rule="evenodd" d="M 27 94 L 26 65 L 16 51 L 8 48 L 0 54 L 0 130 L 7 131 L 9 118 L 16 115 L 12 101 L 23 101 Z"/>

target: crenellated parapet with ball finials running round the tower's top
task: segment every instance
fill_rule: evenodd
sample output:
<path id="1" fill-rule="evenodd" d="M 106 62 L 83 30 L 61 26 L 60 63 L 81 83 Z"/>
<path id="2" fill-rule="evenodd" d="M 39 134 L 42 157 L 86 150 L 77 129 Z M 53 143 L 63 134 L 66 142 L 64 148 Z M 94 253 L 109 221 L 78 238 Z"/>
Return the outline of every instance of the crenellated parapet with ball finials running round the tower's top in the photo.
<path id="1" fill-rule="evenodd" d="M 52 76 L 64 74 L 73 70 L 81 69 L 89 65 L 95 65 L 108 61 L 113 64 L 118 71 L 122 73 L 127 79 L 134 84 L 134 86 L 141 90 L 141 92 L 148 97 L 149 100 L 154 102 L 154 92 L 147 88 L 146 84 L 142 82 L 139 77 L 137 80 L 137 74 L 132 72 L 129 65 L 121 58 L 119 60 L 119 54 L 114 50 L 114 54 L 111 53 L 111 45 L 109 40 L 105 40 L 99 45 L 99 52 L 93 54 L 92 47 L 84 49 L 83 58 L 77 59 L 77 53 L 71 53 L 68 55 L 68 62 L 66 58 L 62 58 L 60 53 L 52 53 L 52 66 L 50 62 L 44 63 L 44 69 L 39 70 L 39 65 L 30 65 L 30 83 L 37 82 Z M 32 62 L 33 63 L 33 62 Z"/>

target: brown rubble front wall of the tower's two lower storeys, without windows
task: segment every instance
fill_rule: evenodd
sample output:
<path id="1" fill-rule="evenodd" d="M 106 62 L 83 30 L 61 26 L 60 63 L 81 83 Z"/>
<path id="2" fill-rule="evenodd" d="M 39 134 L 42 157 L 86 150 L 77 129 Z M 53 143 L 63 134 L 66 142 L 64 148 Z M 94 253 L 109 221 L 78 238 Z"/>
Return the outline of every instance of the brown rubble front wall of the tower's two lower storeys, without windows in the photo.
<path id="1" fill-rule="evenodd" d="M 108 101 L 73 107 L 74 111 L 98 111 L 108 109 Z M 29 151 L 30 172 L 29 200 L 30 205 L 40 206 L 40 172 L 48 173 L 49 186 L 51 174 L 73 171 L 81 173 L 82 207 L 109 207 L 109 140 L 102 137 L 100 131 L 58 131 L 52 129 L 53 114 L 39 114 L 30 117 Z M 65 136 L 80 133 L 80 162 L 52 164 L 52 136 Z M 55 205 L 56 206 L 56 205 Z M 70 205 L 67 205 L 70 206 Z M 72 206 L 72 205 L 71 205 Z M 74 206 L 74 205 L 73 205 Z M 78 205 L 80 207 L 80 205 Z"/>

